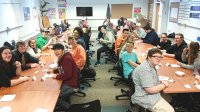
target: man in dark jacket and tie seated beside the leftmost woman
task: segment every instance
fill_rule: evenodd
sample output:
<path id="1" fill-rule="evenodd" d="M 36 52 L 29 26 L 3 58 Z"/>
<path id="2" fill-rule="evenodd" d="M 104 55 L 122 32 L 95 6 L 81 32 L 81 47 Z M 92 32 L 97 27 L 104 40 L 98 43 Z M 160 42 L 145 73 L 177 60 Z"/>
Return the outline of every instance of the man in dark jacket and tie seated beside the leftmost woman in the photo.
<path id="1" fill-rule="evenodd" d="M 42 63 L 39 59 L 32 57 L 26 52 L 26 46 L 23 41 L 17 42 L 16 47 L 17 49 L 13 51 L 13 57 L 22 64 L 22 70 L 35 68 L 38 66 L 38 63 Z"/>

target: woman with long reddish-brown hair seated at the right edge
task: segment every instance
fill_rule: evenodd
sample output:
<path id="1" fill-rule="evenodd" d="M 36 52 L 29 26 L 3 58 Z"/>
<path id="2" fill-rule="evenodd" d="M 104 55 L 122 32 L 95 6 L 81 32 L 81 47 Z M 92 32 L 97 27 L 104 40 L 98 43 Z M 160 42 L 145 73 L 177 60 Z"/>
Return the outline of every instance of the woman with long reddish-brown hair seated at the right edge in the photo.
<path id="1" fill-rule="evenodd" d="M 184 63 L 178 62 L 178 64 L 186 69 L 196 69 L 200 67 L 200 50 L 198 42 L 190 42 L 188 48 L 183 49 L 182 60 Z M 185 64 L 187 63 L 187 64 Z"/>

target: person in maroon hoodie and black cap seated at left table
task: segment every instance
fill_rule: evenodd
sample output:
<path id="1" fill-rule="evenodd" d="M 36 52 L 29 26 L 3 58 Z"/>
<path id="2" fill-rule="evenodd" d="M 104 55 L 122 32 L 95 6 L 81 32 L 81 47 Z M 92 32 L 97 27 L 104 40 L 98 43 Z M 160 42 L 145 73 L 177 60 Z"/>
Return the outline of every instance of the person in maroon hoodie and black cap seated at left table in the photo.
<path id="1" fill-rule="evenodd" d="M 66 111 L 70 107 L 70 104 L 66 101 L 66 98 L 70 94 L 74 93 L 73 88 L 79 87 L 78 68 L 72 58 L 71 53 L 64 52 L 64 46 L 62 44 L 57 43 L 52 49 L 58 58 L 58 67 L 55 70 L 49 69 L 47 72 L 54 72 L 55 75 L 53 78 L 63 81 L 57 105 L 62 110 Z"/>

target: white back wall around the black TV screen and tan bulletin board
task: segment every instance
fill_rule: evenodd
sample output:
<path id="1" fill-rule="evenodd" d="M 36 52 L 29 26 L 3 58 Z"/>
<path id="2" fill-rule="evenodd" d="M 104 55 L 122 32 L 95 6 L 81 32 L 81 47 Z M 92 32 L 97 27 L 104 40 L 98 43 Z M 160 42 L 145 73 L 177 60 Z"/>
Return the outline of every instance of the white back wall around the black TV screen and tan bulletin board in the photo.
<path id="1" fill-rule="evenodd" d="M 46 0 L 50 3 L 49 7 L 56 8 L 56 19 L 50 19 L 50 24 L 53 23 L 60 24 L 60 19 L 58 19 L 58 6 L 57 0 Z M 108 4 L 133 4 L 134 7 L 141 7 L 141 13 L 147 16 L 148 11 L 148 0 L 66 0 L 67 1 L 67 19 L 72 27 L 77 26 L 78 22 L 83 17 L 76 16 L 76 7 L 88 6 L 93 7 L 93 17 L 88 17 L 88 23 L 92 29 L 97 29 L 98 26 L 102 25 L 104 19 L 106 18 L 106 10 Z M 111 7 L 111 5 L 110 5 Z M 112 8 L 112 7 L 111 7 Z M 129 20 L 135 22 L 135 18 L 129 18 Z M 117 24 L 117 19 L 111 19 L 115 25 Z"/>

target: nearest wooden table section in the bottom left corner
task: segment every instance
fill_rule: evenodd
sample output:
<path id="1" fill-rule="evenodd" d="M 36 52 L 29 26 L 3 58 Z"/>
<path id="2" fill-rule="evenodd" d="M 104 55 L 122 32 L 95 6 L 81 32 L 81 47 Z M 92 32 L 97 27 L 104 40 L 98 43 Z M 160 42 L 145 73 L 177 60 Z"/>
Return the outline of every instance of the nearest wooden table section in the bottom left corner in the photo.
<path id="1" fill-rule="evenodd" d="M 0 97 L 8 93 L 16 94 L 15 99 L 10 102 L 0 102 L 0 107 L 10 106 L 12 112 L 34 112 L 37 108 L 44 108 L 48 112 L 53 112 L 59 91 L 4 91 L 0 93 Z"/>

